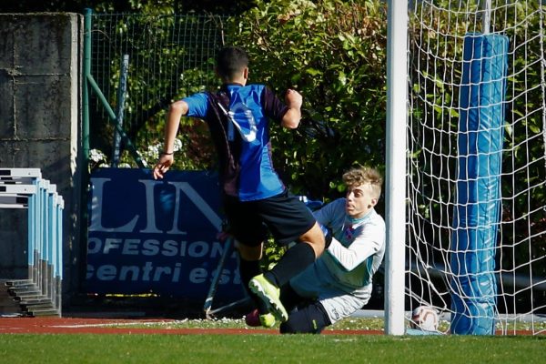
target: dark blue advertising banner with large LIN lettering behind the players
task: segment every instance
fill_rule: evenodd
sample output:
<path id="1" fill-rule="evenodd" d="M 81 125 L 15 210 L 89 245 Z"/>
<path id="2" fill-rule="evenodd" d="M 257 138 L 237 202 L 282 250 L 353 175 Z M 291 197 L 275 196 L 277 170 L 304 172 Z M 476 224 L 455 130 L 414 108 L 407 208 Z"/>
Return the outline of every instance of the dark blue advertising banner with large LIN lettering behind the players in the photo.
<path id="1" fill-rule="evenodd" d="M 224 252 L 217 175 L 101 168 L 91 175 L 86 292 L 204 300 Z M 222 268 L 215 300 L 245 295 L 236 254 Z"/>

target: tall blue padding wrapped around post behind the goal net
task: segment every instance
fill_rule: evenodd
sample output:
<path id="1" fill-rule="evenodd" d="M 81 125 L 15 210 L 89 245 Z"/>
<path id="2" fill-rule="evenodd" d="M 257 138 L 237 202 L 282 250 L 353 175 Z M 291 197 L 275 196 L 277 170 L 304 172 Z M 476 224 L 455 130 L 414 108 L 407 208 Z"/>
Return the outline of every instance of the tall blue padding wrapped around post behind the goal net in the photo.
<path id="1" fill-rule="evenodd" d="M 463 53 L 451 333 L 493 335 L 508 37 L 468 34 Z"/>

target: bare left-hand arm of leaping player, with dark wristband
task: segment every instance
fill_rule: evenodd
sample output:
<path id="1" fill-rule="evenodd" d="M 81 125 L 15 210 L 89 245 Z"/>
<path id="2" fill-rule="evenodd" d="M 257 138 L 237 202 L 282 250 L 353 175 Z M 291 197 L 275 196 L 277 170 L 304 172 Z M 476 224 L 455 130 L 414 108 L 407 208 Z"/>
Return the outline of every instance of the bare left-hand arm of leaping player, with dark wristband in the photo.
<path id="1" fill-rule="evenodd" d="M 175 158 L 175 139 L 180 126 L 180 117 L 187 115 L 186 101 L 176 101 L 171 104 L 167 112 L 167 125 L 165 126 L 165 144 L 163 153 L 159 156 L 154 167 L 154 179 L 163 178 L 167 170 L 173 165 Z"/>

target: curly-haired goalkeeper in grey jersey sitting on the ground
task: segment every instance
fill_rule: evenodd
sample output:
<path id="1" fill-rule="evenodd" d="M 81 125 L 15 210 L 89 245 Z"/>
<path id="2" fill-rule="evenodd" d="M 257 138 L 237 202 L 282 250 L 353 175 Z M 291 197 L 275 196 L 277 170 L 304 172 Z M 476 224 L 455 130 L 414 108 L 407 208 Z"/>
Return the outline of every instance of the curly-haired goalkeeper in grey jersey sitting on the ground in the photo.
<path id="1" fill-rule="evenodd" d="M 281 288 L 289 312 L 281 333 L 319 333 L 369 301 L 371 279 L 385 253 L 385 222 L 374 210 L 383 178 L 374 168 L 360 167 L 345 173 L 343 181 L 346 197 L 314 212 L 328 229 L 329 248 Z"/>

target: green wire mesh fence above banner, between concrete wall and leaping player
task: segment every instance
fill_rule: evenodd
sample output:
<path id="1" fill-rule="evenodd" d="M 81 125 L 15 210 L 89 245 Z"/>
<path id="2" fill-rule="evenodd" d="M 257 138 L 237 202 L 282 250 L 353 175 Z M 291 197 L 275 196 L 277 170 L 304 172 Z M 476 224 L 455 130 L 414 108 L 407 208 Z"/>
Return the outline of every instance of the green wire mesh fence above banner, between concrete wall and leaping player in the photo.
<path id="1" fill-rule="evenodd" d="M 104 98 L 89 98 L 90 147 L 116 149 L 114 124 L 108 121 L 114 116 L 136 149 L 160 143 L 167 106 L 217 85 L 214 59 L 226 43 L 227 20 L 223 15 L 91 14 L 86 57 Z"/>

